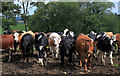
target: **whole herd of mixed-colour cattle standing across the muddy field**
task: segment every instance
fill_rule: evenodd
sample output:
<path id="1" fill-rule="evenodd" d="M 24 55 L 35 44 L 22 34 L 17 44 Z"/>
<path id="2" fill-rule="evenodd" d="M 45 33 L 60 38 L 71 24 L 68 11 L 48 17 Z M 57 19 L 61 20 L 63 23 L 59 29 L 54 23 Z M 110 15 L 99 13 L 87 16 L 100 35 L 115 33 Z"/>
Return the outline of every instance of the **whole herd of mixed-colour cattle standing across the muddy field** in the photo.
<path id="1" fill-rule="evenodd" d="M 80 66 L 85 64 L 85 71 L 91 68 L 91 58 L 98 56 L 97 49 L 102 52 L 102 62 L 105 65 L 106 54 L 109 53 L 111 65 L 113 65 L 112 54 L 118 46 L 120 48 L 120 33 L 113 35 L 112 32 L 96 33 L 90 31 L 89 34 L 84 33 L 75 34 L 73 31 L 65 29 L 63 32 L 44 32 L 32 31 L 15 31 L 4 32 L 0 35 L 0 49 L 9 51 L 9 59 L 12 58 L 12 52 L 16 52 L 19 46 L 23 52 L 23 58 L 27 57 L 29 62 L 29 52 L 33 53 L 35 47 L 38 53 L 38 62 L 45 65 L 44 61 L 47 57 L 47 52 L 50 50 L 51 54 L 56 58 L 61 57 L 61 65 L 64 65 L 64 56 L 68 57 L 69 63 L 72 64 L 73 55 L 80 60 Z M 115 48 L 114 48 L 115 46 Z M 83 62 L 82 62 L 83 60 Z M 88 67 L 87 67 L 88 63 Z"/>

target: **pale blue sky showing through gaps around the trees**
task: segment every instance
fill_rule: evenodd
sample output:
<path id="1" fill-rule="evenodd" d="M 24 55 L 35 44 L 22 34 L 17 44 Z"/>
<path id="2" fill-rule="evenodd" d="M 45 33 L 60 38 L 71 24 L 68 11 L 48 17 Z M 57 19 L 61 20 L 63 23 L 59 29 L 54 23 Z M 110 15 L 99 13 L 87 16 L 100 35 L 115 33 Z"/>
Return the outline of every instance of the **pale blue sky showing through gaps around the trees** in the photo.
<path id="1" fill-rule="evenodd" d="M 35 1 L 35 0 L 34 0 Z M 44 0 L 45 2 L 45 4 L 47 4 L 49 1 L 48 0 Z M 113 2 L 114 4 L 115 4 L 115 7 L 114 8 L 112 8 L 111 9 L 111 11 L 113 12 L 113 13 L 118 13 L 118 2 L 120 1 L 120 0 L 109 0 L 110 2 Z M 14 2 L 15 4 L 19 4 L 19 5 L 21 5 L 19 2 L 17 2 L 17 1 L 15 1 Z M 120 2 L 119 2 L 120 3 Z M 32 7 L 32 8 L 30 8 L 28 11 L 29 11 L 29 15 L 32 15 L 32 14 L 34 14 L 34 10 L 36 9 L 36 7 Z M 23 10 L 22 10 L 22 12 L 23 12 Z"/>

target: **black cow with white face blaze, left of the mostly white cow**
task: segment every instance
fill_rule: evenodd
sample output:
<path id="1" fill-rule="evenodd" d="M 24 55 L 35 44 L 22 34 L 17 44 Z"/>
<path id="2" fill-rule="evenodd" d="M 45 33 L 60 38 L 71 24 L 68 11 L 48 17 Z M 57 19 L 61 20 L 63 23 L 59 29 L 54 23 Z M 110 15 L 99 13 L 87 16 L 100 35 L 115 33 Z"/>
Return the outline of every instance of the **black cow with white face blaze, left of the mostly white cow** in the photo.
<path id="1" fill-rule="evenodd" d="M 41 32 L 35 35 L 35 48 L 38 51 L 39 63 L 43 64 L 44 59 L 47 57 L 48 37 L 45 33 Z"/>

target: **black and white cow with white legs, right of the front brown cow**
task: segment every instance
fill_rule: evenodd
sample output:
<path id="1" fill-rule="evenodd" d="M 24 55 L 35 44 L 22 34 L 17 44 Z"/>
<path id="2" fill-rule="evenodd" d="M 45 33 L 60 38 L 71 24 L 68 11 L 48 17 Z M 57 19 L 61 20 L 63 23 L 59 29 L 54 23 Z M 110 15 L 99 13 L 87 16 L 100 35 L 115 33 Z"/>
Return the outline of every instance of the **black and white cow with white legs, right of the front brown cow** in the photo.
<path id="1" fill-rule="evenodd" d="M 95 40 L 98 43 L 96 44 L 97 48 L 100 49 L 102 51 L 102 62 L 105 65 L 105 57 L 107 53 L 110 53 L 109 57 L 110 57 L 110 62 L 111 65 L 113 65 L 113 60 L 112 60 L 112 53 L 113 53 L 113 40 L 110 39 L 105 33 L 96 33 L 94 34 Z"/>

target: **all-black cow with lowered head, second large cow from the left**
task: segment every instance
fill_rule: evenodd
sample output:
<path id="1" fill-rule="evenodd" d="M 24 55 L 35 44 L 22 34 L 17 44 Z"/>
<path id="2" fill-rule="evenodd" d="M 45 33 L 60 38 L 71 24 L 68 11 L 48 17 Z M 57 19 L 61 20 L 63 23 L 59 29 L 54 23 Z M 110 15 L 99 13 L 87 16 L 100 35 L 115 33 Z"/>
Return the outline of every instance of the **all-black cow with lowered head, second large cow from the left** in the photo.
<path id="1" fill-rule="evenodd" d="M 23 52 L 23 57 L 25 60 L 25 54 L 27 55 L 27 62 L 29 62 L 28 59 L 28 53 L 31 49 L 33 49 L 33 36 L 29 33 L 24 34 L 20 41 L 20 47 Z"/>

